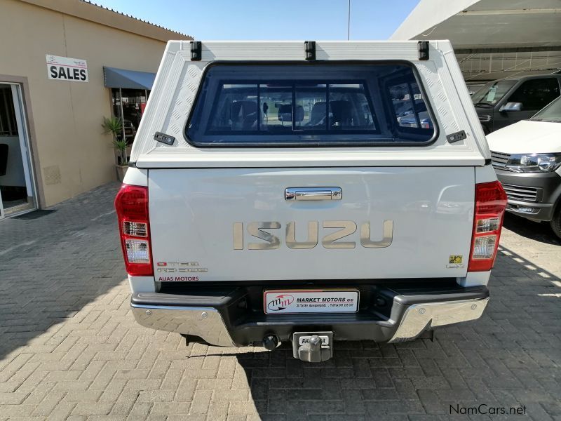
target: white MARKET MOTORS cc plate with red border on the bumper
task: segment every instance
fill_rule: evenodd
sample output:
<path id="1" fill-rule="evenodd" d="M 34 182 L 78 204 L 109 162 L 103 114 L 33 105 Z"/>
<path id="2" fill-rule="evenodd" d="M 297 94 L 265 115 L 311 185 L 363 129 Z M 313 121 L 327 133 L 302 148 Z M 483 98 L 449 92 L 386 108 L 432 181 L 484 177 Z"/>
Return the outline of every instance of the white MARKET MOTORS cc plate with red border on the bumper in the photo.
<path id="1" fill-rule="evenodd" d="M 356 313 L 358 290 L 268 290 L 263 307 L 265 314 Z"/>

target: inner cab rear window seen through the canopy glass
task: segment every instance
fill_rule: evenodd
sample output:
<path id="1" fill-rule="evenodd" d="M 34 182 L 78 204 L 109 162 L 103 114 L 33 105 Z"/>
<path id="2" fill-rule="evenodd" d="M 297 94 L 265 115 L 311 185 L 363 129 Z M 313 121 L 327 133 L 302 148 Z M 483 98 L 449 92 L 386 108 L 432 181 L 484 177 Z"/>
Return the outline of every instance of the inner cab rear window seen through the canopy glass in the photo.
<path id="1" fill-rule="evenodd" d="M 363 83 L 225 83 L 219 98 L 221 100 L 215 106 L 209 133 L 329 133 L 376 129 Z M 221 107 L 221 102 L 229 102 L 230 99 L 231 107 Z M 345 101 L 356 103 L 358 112 L 354 118 L 353 110 L 345 107 Z M 217 112 L 218 108 L 220 112 Z M 226 112 L 228 108 L 230 113 Z M 327 108 L 330 112 L 327 112 Z M 261 119 L 257 118 L 257 109 L 261 111 Z"/>

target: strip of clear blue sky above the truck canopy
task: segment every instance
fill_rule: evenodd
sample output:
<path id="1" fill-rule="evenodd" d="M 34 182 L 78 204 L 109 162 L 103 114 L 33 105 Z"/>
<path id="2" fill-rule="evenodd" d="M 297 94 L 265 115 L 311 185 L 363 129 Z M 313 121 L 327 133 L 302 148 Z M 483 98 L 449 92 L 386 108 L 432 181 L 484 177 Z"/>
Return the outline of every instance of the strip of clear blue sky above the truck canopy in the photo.
<path id="1" fill-rule="evenodd" d="M 348 0 L 93 0 L 196 39 L 346 39 Z M 388 39 L 419 0 L 351 0 L 351 39 Z"/>

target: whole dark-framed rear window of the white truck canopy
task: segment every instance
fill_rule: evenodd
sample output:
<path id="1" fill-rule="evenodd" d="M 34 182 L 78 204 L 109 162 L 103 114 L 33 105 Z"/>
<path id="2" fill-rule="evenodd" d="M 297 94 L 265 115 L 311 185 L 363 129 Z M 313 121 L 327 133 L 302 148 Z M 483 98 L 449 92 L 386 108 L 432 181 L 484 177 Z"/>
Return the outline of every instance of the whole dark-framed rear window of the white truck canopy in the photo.
<path id="1" fill-rule="evenodd" d="M 187 122 L 196 146 L 430 142 L 433 119 L 405 64 L 211 65 Z"/>

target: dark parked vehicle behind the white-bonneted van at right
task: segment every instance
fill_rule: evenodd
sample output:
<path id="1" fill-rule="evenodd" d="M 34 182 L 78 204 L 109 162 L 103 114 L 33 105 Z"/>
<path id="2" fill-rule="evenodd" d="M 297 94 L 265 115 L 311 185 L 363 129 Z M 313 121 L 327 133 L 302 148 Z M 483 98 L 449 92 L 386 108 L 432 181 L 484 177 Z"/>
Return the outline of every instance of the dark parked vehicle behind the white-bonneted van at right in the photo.
<path id="1" fill-rule="evenodd" d="M 487 135 L 527 120 L 560 95 L 561 74 L 521 76 L 486 83 L 471 95 Z"/>

